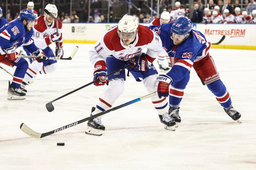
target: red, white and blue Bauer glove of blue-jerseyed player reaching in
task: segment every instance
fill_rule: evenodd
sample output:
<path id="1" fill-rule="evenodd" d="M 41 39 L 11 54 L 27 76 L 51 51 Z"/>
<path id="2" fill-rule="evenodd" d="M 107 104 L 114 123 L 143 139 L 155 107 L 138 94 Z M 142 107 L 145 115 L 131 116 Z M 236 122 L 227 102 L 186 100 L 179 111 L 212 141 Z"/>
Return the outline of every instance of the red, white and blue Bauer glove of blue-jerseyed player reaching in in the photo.
<path id="1" fill-rule="evenodd" d="M 168 97 L 169 96 L 169 85 L 172 84 L 172 78 L 165 74 L 160 74 L 156 78 L 156 95 L 161 99 L 161 97 Z"/>

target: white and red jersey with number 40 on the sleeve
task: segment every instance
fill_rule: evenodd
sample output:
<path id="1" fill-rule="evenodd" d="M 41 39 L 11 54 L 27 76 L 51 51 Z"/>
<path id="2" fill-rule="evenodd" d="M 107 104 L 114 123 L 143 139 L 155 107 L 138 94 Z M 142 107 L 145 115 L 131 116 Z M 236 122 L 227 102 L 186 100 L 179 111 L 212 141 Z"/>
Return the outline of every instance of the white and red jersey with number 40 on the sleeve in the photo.
<path id="1" fill-rule="evenodd" d="M 58 19 L 58 28 L 59 33 L 62 33 L 62 23 Z M 48 41 L 45 41 L 45 38 L 48 38 L 51 34 L 56 33 L 56 23 L 53 20 L 51 26 L 47 26 L 44 20 L 44 15 L 37 18 L 37 24 L 34 26 L 34 35 L 32 36 L 32 39 L 34 40 L 35 45 L 38 48 L 45 49 L 49 44 Z M 43 40 L 43 41 L 42 41 Z M 62 40 L 60 41 L 62 44 Z M 60 45 L 61 46 L 61 45 Z"/>

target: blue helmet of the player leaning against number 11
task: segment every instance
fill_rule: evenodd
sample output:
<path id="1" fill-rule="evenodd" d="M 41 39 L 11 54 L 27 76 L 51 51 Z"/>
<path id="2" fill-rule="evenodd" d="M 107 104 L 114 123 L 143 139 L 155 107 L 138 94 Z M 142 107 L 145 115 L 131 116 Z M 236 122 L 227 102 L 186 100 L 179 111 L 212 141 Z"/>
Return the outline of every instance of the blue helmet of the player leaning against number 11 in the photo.
<path id="1" fill-rule="evenodd" d="M 173 24 L 171 31 L 178 35 L 186 35 L 192 29 L 192 21 L 185 17 L 178 18 Z"/>

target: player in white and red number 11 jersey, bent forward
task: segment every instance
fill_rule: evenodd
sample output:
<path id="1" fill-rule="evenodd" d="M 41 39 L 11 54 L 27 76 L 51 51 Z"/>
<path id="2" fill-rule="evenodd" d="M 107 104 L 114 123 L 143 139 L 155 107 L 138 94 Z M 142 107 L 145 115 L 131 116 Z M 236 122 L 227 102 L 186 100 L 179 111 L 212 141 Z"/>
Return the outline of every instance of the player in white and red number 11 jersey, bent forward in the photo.
<path id="1" fill-rule="evenodd" d="M 148 49 L 146 54 L 141 52 L 143 48 Z M 161 50 L 162 41 L 159 36 L 139 25 L 136 17 L 124 15 L 118 26 L 111 27 L 89 51 L 90 62 L 95 68 L 93 80 L 99 80 L 94 85 L 108 85 L 96 108 L 92 107 L 92 115 L 108 110 L 124 91 L 125 70 L 106 77 L 107 68 L 108 73 L 111 73 L 135 63 L 136 65 L 128 68 L 132 76 L 136 81 L 142 81 L 149 93 L 155 92 L 157 71 L 152 62 Z M 151 100 L 164 128 L 174 130 L 175 121 L 168 115 L 167 98 L 159 99 L 155 95 Z M 101 136 L 105 130 L 101 116 L 89 120 L 87 126 L 85 133 L 90 135 Z"/>

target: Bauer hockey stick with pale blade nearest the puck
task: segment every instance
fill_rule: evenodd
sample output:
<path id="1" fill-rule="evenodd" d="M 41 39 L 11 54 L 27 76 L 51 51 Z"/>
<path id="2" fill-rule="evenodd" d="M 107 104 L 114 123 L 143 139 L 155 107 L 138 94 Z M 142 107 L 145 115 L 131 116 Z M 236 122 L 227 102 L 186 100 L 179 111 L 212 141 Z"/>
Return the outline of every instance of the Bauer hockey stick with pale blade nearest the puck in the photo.
<path id="1" fill-rule="evenodd" d="M 143 99 L 147 99 L 147 98 L 149 98 L 149 97 L 151 97 L 151 96 L 154 96 L 154 95 L 156 95 L 156 92 L 153 92 L 153 93 L 148 94 L 148 95 L 146 95 L 146 96 L 143 96 L 143 97 L 134 99 L 134 100 L 132 100 L 132 101 L 129 101 L 129 102 L 124 103 L 124 104 L 121 104 L 121 105 L 119 105 L 119 106 L 113 107 L 112 109 L 106 110 L 106 111 L 104 111 L 104 112 L 100 112 L 100 113 L 98 113 L 98 114 L 96 114 L 96 115 L 92 115 L 92 116 L 87 117 L 87 118 L 85 118 L 85 119 L 82 119 L 82 120 L 80 120 L 80 121 L 77 121 L 77 122 L 74 122 L 74 123 L 70 123 L 70 124 L 68 124 L 68 125 L 66 125 L 66 126 L 63 126 L 63 127 L 61 127 L 61 128 L 52 130 L 52 131 L 50 131 L 50 132 L 46 132 L 46 133 L 37 133 L 37 132 L 35 132 L 34 130 L 30 129 L 25 123 L 21 123 L 20 129 L 21 129 L 24 133 L 26 133 L 27 135 L 39 139 L 39 138 L 42 138 L 42 137 L 46 137 L 46 136 L 52 135 L 53 133 L 57 133 L 57 132 L 59 132 L 59 131 L 61 131 L 61 130 L 68 129 L 68 128 L 72 127 L 72 126 L 76 126 L 76 125 L 78 125 L 78 124 L 80 124 L 80 123 L 83 123 L 83 122 L 85 122 L 85 121 L 91 120 L 91 119 L 93 119 L 93 118 L 95 118 L 95 117 L 99 117 L 99 116 L 101 116 L 101 115 L 105 115 L 105 114 L 107 114 L 107 113 L 109 113 L 109 112 L 112 112 L 112 111 L 114 111 L 114 110 L 117 110 L 117 109 L 122 108 L 122 107 L 125 107 L 125 106 L 128 106 L 128 105 L 130 105 L 130 104 L 132 104 L 132 103 L 135 103 L 135 102 L 137 102 L 137 101 L 140 101 L 140 100 L 143 100 Z"/>

